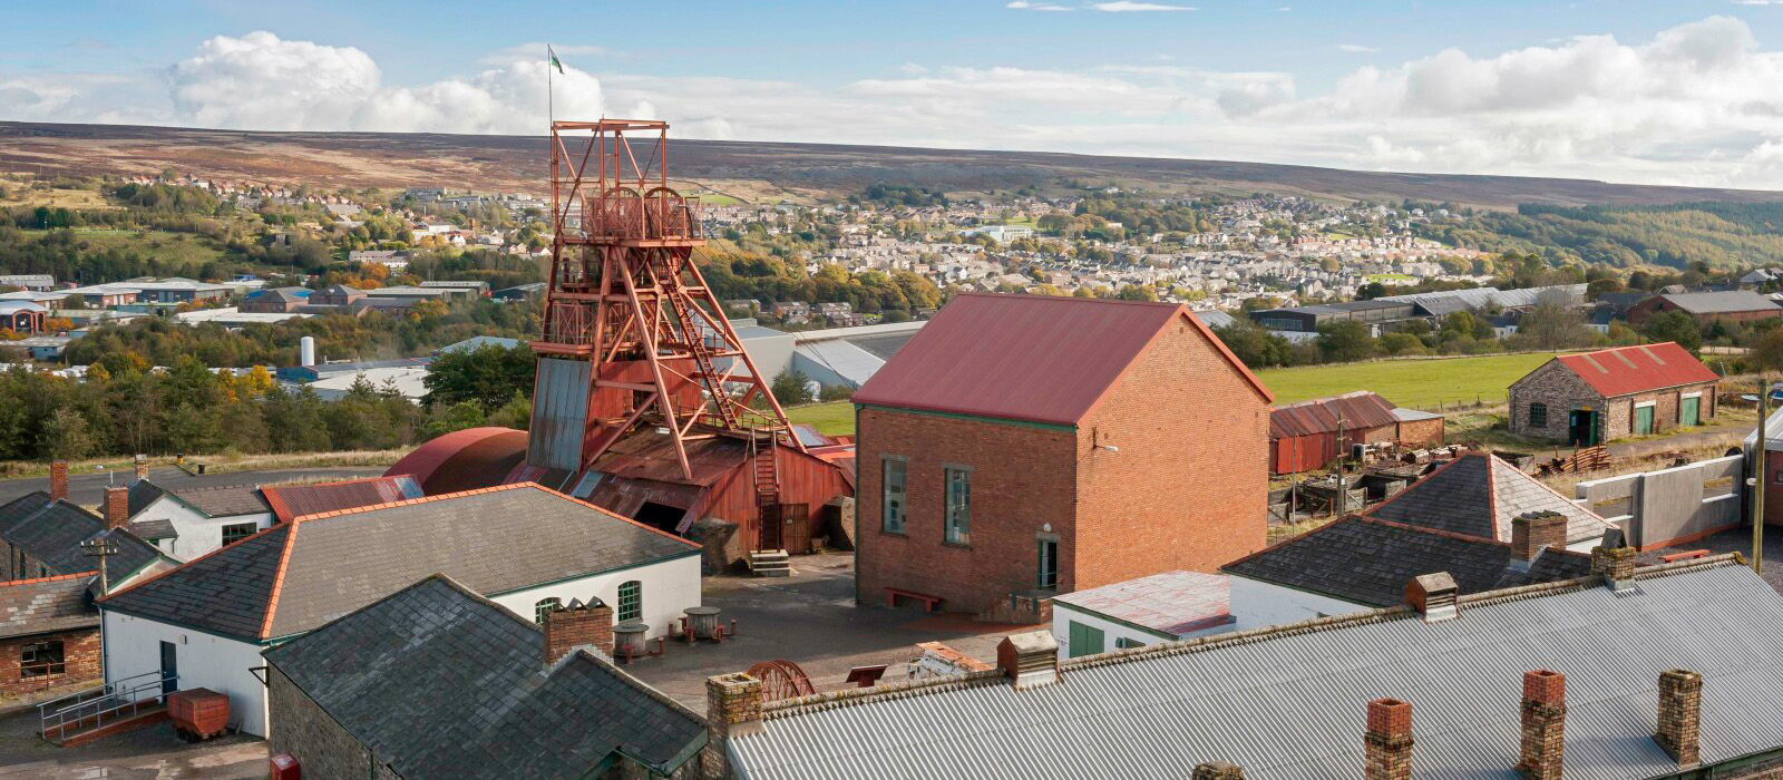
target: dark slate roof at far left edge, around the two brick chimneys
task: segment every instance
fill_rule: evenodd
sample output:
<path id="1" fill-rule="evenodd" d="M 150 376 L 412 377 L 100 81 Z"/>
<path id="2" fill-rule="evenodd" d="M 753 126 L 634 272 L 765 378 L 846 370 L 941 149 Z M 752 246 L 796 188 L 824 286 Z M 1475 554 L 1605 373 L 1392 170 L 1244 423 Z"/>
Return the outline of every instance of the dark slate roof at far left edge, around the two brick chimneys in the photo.
<path id="1" fill-rule="evenodd" d="M 118 554 L 105 563 L 114 581 L 160 557 L 155 545 L 128 531 L 107 531 L 98 515 L 66 500 L 50 500 L 50 493 L 41 490 L 0 506 L 0 540 L 23 548 L 50 573 L 98 570 L 80 543 L 102 536 L 118 541 Z"/>

